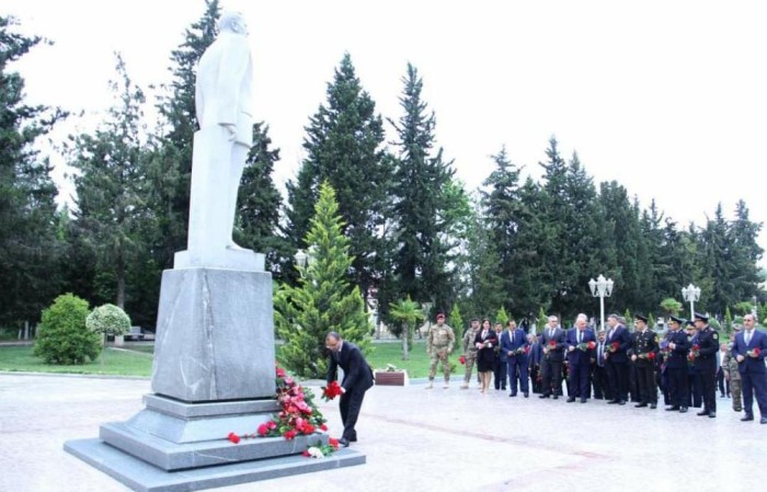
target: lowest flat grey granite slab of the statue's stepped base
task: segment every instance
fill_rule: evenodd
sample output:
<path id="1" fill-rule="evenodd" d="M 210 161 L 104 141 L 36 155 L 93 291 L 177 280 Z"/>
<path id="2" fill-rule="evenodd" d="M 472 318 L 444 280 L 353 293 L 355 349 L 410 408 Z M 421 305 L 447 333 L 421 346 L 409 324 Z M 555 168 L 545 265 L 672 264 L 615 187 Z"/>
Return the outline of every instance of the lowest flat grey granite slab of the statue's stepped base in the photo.
<path id="1" fill-rule="evenodd" d="M 365 464 L 364 455 L 346 448 L 321 459 L 291 455 L 169 472 L 100 439 L 69 440 L 64 448 L 67 453 L 140 492 L 188 492 Z"/>

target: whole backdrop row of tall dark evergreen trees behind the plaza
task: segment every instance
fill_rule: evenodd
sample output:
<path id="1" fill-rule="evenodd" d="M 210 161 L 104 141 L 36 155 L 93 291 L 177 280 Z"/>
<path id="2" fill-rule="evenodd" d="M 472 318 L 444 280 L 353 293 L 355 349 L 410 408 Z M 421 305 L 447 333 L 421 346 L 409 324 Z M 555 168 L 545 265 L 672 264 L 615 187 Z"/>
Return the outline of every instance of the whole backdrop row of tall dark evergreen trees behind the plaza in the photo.
<path id="1" fill-rule="evenodd" d="M 186 247 L 194 68 L 219 13 L 218 0 L 206 0 L 171 54 L 172 81 L 161 88 L 154 128 L 145 127 L 144 92 L 117 55 L 113 107 L 95 131 L 67 145 L 77 196 L 72 210 L 59 211 L 49 164 L 31 149 L 62 113 L 24 105 L 23 80 L 7 67 L 41 39 L 14 34 L 12 21 L 0 18 L 0 276 L 10 286 L 0 291 L 0 325 L 36 320 L 62 291 L 115 302 L 135 323 L 153 325 L 160 273 Z M 277 282 L 300 282 L 294 254 L 307 247 L 328 183 L 348 239 L 348 281 L 364 298 L 377 297 L 385 321 L 389 307 L 408 298 L 431 306 L 426 316 L 459 305 L 467 317 L 501 308 L 527 319 L 596 313 L 587 283 L 600 273 L 615 279 L 610 311 L 660 311 L 663 299 L 682 300 L 689 283 L 701 287 L 699 307 L 712 313 L 753 296 L 764 300 L 762 224 L 751 220 L 745 203 L 732 221 L 720 206 L 701 226 L 679 226 L 654 203 L 643 209 L 617 182 L 597 186 L 553 137 L 538 163 L 540 180 L 525 178 L 501 148 L 481 188 L 468 193 L 437 145 L 423 84 L 408 65 L 400 114 L 385 118 L 344 55 L 309 117 L 306 159 L 285 203 L 272 178 L 279 150 L 268 125 L 254 125 L 236 237 L 267 253 Z"/>

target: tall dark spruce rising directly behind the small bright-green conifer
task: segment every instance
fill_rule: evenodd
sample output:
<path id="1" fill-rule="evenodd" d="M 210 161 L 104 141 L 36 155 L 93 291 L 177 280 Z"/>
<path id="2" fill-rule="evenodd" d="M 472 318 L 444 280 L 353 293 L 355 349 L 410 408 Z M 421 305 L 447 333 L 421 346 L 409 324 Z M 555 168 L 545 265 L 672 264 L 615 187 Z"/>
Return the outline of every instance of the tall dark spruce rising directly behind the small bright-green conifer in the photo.
<path id="1" fill-rule="evenodd" d="M 345 54 L 328 84 L 328 101 L 306 127 L 304 160 L 295 182 L 287 185 L 290 240 L 305 248 L 320 184 L 337 196 L 342 232 L 350 239 L 353 283 L 367 293 L 385 270 L 384 225 L 389 215 L 390 160 L 384 150 L 384 122 L 363 89 L 352 57 Z"/>

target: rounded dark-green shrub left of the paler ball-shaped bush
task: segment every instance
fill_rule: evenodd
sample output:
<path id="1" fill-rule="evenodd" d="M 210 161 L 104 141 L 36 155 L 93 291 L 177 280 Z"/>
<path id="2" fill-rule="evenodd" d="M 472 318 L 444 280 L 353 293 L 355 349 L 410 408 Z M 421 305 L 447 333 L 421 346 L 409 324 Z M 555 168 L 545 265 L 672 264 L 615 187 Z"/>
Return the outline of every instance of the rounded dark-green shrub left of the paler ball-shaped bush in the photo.
<path id="1" fill-rule="evenodd" d="M 101 336 L 85 327 L 88 302 L 72 294 L 43 310 L 34 354 L 48 364 L 84 364 L 101 352 Z"/>

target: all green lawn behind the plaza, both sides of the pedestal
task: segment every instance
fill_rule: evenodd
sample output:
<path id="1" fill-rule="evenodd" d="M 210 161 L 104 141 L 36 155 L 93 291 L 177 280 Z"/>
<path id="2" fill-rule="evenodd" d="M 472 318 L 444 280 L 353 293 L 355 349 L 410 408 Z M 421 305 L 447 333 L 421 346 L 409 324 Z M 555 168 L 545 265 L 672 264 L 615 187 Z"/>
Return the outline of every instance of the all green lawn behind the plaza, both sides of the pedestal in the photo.
<path id="1" fill-rule="evenodd" d="M 66 373 L 66 374 L 100 374 L 122 376 L 151 376 L 153 345 L 128 345 L 126 350 L 106 348 L 104 354 L 94 363 L 81 366 L 48 365 L 42 358 L 32 355 L 31 346 L 0 346 L 0 370 L 26 373 Z M 102 357 L 104 358 L 102 364 Z M 461 371 L 458 354 L 450 356 L 454 374 Z M 391 364 L 399 369 L 408 370 L 411 378 L 424 378 L 428 375 L 428 356 L 424 342 L 413 343 L 410 359 L 402 361 L 402 344 L 374 343 L 368 363 L 375 369 L 386 369 Z M 439 368 L 442 370 L 442 368 Z"/>

